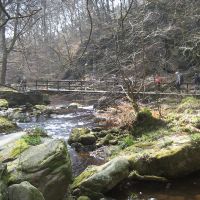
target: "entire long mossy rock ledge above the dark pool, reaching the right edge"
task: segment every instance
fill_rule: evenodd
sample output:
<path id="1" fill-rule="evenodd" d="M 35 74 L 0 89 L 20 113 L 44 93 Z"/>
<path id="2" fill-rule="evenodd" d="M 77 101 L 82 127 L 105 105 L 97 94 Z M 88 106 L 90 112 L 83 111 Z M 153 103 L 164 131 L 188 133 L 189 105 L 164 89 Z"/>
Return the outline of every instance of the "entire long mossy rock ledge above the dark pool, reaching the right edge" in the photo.
<path id="1" fill-rule="evenodd" d="M 200 170 L 200 136 L 173 135 L 144 145 L 140 142 L 120 152 L 102 166 L 93 166 L 75 178 L 78 196 L 100 199 L 125 179 L 167 181 Z"/>

